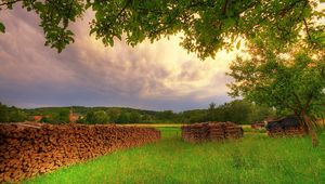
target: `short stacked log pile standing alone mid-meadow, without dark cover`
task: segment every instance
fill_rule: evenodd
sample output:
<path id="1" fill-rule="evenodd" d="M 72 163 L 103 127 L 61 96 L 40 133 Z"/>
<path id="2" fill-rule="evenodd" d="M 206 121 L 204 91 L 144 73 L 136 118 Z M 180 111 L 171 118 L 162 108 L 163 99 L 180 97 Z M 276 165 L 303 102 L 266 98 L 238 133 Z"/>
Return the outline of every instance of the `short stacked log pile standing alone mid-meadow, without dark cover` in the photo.
<path id="1" fill-rule="evenodd" d="M 220 141 L 239 139 L 243 129 L 234 122 L 202 122 L 182 127 L 182 139 L 185 142 Z"/>

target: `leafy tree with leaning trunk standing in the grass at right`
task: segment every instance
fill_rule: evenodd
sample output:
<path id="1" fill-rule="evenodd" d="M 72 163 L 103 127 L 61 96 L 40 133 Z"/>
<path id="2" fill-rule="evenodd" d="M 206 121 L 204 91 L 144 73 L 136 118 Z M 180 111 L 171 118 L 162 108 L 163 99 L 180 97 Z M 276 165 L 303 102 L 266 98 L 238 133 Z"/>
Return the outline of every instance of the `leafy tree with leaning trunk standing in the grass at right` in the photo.
<path id="1" fill-rule="evenodd" d="M 261 43 L 261 42 L 260 42 Z M 244 96 L 277 110 L 290 110 L 317 145 L 313 117 L 325 110 L 325 50 L 322 44 L 297 43 L 290 50 L 250 47 L 251 58 L 238 57 L 229 75 L 232 96 Z"/>

